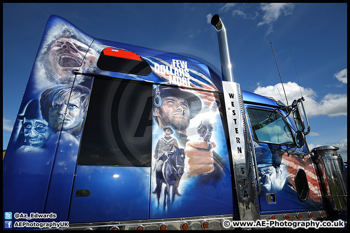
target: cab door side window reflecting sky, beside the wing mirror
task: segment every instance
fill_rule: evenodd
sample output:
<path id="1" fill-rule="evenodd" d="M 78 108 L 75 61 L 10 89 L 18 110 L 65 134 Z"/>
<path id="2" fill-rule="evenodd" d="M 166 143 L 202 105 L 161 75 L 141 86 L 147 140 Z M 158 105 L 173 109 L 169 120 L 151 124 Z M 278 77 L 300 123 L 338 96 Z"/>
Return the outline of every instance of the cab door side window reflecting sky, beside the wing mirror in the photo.
<path id="1" fill-rule="evenodd" d="M 256 108 L 247 108 L 247 113 L 257 142 L 294 147 L 291 130 L 278 113 Z"/>

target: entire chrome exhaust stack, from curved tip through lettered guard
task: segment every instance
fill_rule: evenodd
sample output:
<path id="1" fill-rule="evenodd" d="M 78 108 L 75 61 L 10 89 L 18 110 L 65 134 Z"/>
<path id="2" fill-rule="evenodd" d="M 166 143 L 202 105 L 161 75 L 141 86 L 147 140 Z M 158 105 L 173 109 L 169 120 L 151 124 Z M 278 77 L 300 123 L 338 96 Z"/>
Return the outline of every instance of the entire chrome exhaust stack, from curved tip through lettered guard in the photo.
<path id="1" fill-rule="evenodd" d="M 238 200 L 237 214 L 239 214 L 239 218 L 243 221 L 256 221 L 260 219 L 258 198 L 260 182 L 258 166 L 256 165 L 256 157 L 244 110 L 241 85 L 235 83 L 233 79 L 226 29 L 219 15 L 214 15 L 211 18 L 211 24 L 216 30 L 219 41 L 223 76 L 222 88 L 226 106 L 228 138 L 231 144 L 230 155 L 233 162 L 233 172 L 235 177 L 240 177 L 240 179 L 235 179 L 236 187 L 240 187 L 236 189 L 236 198 Z M 238 132 L 239 134 L 237 134 Z M 244 140 L 243 143 L 237 140 L 238 135 Z M 253 185 L 246 185 L 247 183 L 252 183 Z"/>

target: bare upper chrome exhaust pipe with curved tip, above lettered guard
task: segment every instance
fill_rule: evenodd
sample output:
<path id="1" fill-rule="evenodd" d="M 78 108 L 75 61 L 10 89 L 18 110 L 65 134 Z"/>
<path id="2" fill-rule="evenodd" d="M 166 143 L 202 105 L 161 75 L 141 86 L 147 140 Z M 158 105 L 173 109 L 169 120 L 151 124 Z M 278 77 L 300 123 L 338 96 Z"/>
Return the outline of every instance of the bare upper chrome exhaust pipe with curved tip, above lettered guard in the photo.
<path id="1" fill-rule="evenodd" d="M 226 29 L 223 22 L 220 20 L 219 15 L 216 14 L 211 18 L 211 25 L 214 26 L 218 35 L 223 81 L 234 82 Z"/>

